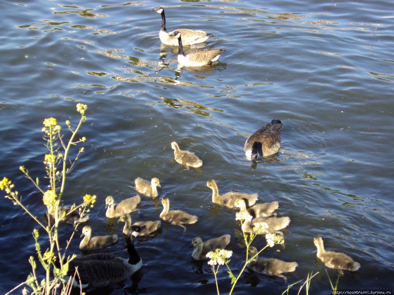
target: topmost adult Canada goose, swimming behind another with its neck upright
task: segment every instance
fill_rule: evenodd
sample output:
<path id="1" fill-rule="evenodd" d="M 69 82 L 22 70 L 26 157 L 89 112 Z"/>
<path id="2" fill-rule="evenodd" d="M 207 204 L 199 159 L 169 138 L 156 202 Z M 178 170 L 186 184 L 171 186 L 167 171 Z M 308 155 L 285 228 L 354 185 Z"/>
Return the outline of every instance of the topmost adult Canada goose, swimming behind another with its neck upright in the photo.
<path id="1" fill-rule="evenodd" d="M 165 28 L 165 15 L 163 7 L 155 7 L 154 11 L 162 15 L 162 26 L 160 27 L 159 38 L 162 43 L 167 45 L 178 46 L 178 39 L 176 37 L 170 36 Z M 207 34 L 204 31 L 193 31 L 188 29 L 177 29 L 176 31 L 182 34 L 183 44 L 191 45 L 196 43 L 204 42 L 208 37 L 212 37 L 214 34 Z"/>

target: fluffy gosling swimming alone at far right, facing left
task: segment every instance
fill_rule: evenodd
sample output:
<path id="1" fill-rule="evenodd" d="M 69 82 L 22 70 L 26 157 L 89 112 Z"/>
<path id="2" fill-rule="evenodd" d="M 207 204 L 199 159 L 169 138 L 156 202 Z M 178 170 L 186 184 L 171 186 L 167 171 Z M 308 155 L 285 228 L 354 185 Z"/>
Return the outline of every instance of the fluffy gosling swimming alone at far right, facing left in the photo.
<path id="1" fill-rule="evenodd" d="M 357 269 L 360 268 L 360 264 L 358 262 L 354 262 L 348 254 L 334 251 L 325 251 L 322 237 L 315 237 L 313 242 L 318 249 L 317 256 L 320 260 L 322 260 L 325 266 L 349 271 L 357 271 Z"/>

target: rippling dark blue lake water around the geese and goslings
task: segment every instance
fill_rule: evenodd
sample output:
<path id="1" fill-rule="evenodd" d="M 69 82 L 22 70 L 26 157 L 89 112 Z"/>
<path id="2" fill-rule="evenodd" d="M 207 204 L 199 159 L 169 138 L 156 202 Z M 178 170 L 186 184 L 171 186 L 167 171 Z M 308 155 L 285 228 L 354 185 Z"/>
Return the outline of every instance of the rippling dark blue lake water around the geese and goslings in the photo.
<path id="1" fill-rule="evenodd" d="M 203 45 L 227 48 L 219 62 L 177 71 L 176 49 L 158 38 L 160 15 L 151 9 L 159 5 L 168 30 L 213 33 Z M 0 7 L 0 177 L 16 184 L 24 204 L 43 218 L 42 195 L 18 168 L 26 166 L 45 188 L 44 118 L 57 118 L 65 131 L 65 120 L 79 120 L 76 103 L 84 103 L 85 152 L 69 175 L 64 203 L 97 195 L 89 221 L 95 234 L 123 238 L 123 225 L 105 217 L 104 199 L 136 194 L 136 177 L 158 177 L 160 198 L 199 216 L 185 234 L 163 221 L 156 237 L 138 238 L 141 272 L 107 293 L 216 294 L 210 266 L 190 256 L 196 236 L 231 234 L 230 267 L 238 273 L 240 226 L 234 211 L 212 205 L 208 179 L 220 193 L 258 192 L 260 202 L 279 201 L 278 216 L 291 218 L 285 247 L 263 256 L 298 262 L 289 283 L 319 271 L 310 293 L 331 294 L 316 259 L 319 235 L 326 249 L 361 264 L 340 277 L 340 289 L 393 288 L 391 0 L 36 0 Z M 243 143 L 272 119 L 283 123 L 282 148 L 251 167 Z M 202 170 L 185 171 L 173 160 L 174 140 L 203 159 Z M 159 219 L 160 201 L 141 199 L 133 220 Z M 2 198 L 0 206 L 0 291 L 6 293 L 31 270 L 36 225 L 10 200 Z M 61 238 L 71 230 L 62 225 Z M 79 242 L 76 237 L 69 253 L 80 254 Z M 253 245 L 262 247 L 265 239 Z M 123 239 L 104 251 L 127 256 Z M 328 273 L 334 279 L 337 272 Z M 221 267 L 222 294 L 229 283 Z M 282 278 L 245 273 L 235 293 L 281 294 L 286 287 Z"/>

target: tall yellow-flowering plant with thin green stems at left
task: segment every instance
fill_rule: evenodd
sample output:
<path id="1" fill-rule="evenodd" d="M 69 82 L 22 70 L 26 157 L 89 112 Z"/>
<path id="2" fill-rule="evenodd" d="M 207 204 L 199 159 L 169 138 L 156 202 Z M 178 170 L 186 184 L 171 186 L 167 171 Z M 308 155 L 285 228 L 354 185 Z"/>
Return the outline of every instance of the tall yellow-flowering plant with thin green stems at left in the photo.
<path id="1" fill-rule="evenodd" d="M 96 201 L 96 195 L 85 194 L 82 204 L 78 206 L 73 205 L 71 209 L 67 211 L 60 207 L 61 199 L 65 191 L 67 175 L 72 170 L 76 160 L 78 160 L 80 153 L 84 152 L 84 147 L 81 147 L 78 150 L 76 157 L 72 161 L 68 159 L 69 151 L 71 147 L 86 141 L 85 136 L 77 140 L 75 138 L 80 126 L 86 120 L 85 113 L 87 110 L 87 105 L 78 103 L 76 105 L 76 110 L 81 115 L 76 128 L 72 129 L 70 121 L 66 121 L 67 128 L 69 131 L 71 131 L 71 136 L 68 142 L 64 141 L 65 137 L 61 134 L 62 129 L 61 126 L 58 125 L 56 118 L 50 117 L 43 121 L 43 128 L 41 130 L 44 133 L 43 139 L 45 140 L 46 147 L 48 149 L 48 153 L 45 154 L 43 161 L 45 165 L 46 178 L 49 179 L 49 185 L 46 186 L 47 189 L 43 190 L 41 188 L 38 177 L 33 179 L 26 167 L 19 167 L 19 170 L 22 171 L 22 173 L 24 173 L 24 175 L 30 179 L 30 181 L 32 181 L 37 190 L 39 190 L 39 192 L 42 194 L 43 204 L 48 208 L 48 223 L 46 225 L 42 223 L 36 216 L 34 216 L 26 206 L 23 205 L 22 197 L 17 191 L 14 190 L 14 184 L 9 179 L 7 179 L 7 177 L 3 177 L 0 182 L 0 190 L 6 193 L 5 197 L 13 201 L 15 205 L 22 207 L 23 210 L 26 211 L 28 215 L 30 215 L 39 225 L 39 227 L 45 230 L 45 232 L 48 234 L 48 238 L 45 238 L 45 240 L 48 240 L 49 242 L 48 248 L 44 252 L 41 251 L 39 230 L 33 230 L 37 258 L 43 267 L 43 271 L 45 272 L 45 279 L 39 281 L 38 278 L 41 276 L 41 273 L 37 273 L 37 263 L 35 262 L 35 258 L 30 256 L 29 263 L 32 266 L 32 273 L 30 273 L 26 281 L 22 282 L 19 284 L 19 286 L 16 286 L 6 294 L 10 294 L 17 288 L 20 288 L 24 285 L 32 288 L 32 293 L 34 294 L 49 295 L 57 293 L 57 288 L 60 286 L 59 281 L 62 280 L 67 273 L 69 261 L 74 258 L 74 255 L 66 257 L 66 251 L 80 221 L 75 222 L 71 237 L 67 241 L 67 246 L 64 249 L 61 249 L 58 239 L 59 223 L 65 220 L 67 216 L 75 210 L 78 210 L 77 212 L 79 213 L 80 217 L 84 216 L 85 212 L 89 211 Z M 54 263 L 55 261 L 56 264 Z M 65 291 L 68 292 L 69 288 L 70 286 L 65 284 L 61 293 L 64 293 Z M 26 287 L 24 290 L 26 291 Z"/>

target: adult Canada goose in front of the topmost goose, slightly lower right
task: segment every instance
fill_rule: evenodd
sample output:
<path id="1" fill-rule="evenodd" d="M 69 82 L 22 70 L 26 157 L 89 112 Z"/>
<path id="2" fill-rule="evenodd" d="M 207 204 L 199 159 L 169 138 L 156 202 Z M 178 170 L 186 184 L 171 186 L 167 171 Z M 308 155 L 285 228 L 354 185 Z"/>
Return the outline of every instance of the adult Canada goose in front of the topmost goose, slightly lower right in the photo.
<path id="1" fill-rule="evenodd" d="M 195 49 L 185 55 L 183 52 L 182 38 L 179 31 L 173 31 L 169 36 L 178 38 L 178 63 L 184 66 L 204 66 L 219 59 L 226 48 Z M 183 35 L 182 35 L 183 36 Z"/>

